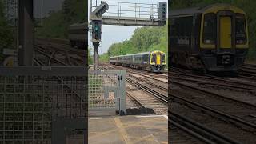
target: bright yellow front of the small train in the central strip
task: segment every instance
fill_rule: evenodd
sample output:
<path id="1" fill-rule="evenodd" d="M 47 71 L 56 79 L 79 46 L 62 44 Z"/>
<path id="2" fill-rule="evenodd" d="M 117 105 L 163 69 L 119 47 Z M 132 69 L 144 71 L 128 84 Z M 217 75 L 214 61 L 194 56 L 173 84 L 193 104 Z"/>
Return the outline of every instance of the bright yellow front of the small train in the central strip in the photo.
<path id="1" fill-rule="evenodd" d="M 150 52 L 150 71 L 163 72 L 166 67 L 166 54 L 159 50 Z"/>

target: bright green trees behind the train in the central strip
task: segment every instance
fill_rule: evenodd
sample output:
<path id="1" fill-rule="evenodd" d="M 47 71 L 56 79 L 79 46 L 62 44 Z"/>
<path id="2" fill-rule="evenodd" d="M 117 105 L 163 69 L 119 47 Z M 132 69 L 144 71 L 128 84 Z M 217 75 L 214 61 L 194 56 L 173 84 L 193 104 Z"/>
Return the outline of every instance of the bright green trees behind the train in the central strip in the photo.
<path id="1" fill-rule="evenodd" d="M 129 40 L 112 44 L 107 53 L 100 56 L 100 60 L 108 62 L 111 56 L 135 54 L 150 50 L 161 50 L 167 54 L 167 34 L 167 24 L 162 27 L 137 28 Z"/>

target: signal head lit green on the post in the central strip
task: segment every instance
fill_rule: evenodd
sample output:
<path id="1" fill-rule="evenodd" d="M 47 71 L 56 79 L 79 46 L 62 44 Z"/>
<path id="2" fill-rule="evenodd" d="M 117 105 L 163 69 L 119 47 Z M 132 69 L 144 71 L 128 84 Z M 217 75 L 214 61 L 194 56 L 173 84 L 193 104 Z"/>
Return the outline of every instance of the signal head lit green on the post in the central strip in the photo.
<path id="1" fill-rule="evenodd" d="M 102 42 L 102 20 L 92 22 L 92 42 Z"/>

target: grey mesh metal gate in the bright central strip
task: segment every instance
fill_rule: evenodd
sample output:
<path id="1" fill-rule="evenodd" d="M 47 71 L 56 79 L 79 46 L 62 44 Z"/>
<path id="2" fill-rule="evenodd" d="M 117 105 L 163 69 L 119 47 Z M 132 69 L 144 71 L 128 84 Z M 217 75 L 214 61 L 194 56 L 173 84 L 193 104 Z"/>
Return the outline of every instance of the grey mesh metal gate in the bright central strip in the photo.
<path id="1" fill-rule="evenodd" d="M 89 111 L 126 111 L 125 70 L 89 71 Z"/>

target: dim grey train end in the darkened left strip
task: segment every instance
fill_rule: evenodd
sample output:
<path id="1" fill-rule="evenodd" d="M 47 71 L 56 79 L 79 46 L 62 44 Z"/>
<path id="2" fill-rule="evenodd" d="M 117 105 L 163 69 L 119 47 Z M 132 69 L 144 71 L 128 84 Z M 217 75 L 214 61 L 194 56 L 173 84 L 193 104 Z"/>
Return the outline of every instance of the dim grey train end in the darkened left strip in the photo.
<path id="1" fill-rule="evenodd" d="M 88 26 L 86 22 L 69 26 L 70 46 L 85 49 L 87 46 Z"/>

